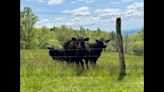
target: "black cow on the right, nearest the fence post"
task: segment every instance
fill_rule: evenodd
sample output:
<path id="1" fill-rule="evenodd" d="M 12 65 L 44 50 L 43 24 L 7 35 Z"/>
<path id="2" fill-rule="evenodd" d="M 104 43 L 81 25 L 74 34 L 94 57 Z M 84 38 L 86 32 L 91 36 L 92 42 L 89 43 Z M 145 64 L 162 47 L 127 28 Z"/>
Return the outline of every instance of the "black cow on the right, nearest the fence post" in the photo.
<path id="1" fill-rule="evenodd" d="M 83 58 L 87 68 L 88 61 L 90 61 L 91 65 L 96 65 L 97 59 L 100 57 L 103 48 L 106 48 L 109 41 L 110 40 L 100 39 L 96 40 L 96 43 L 88 43 L 88 52 L 86 52 L 86 57 Z"/>

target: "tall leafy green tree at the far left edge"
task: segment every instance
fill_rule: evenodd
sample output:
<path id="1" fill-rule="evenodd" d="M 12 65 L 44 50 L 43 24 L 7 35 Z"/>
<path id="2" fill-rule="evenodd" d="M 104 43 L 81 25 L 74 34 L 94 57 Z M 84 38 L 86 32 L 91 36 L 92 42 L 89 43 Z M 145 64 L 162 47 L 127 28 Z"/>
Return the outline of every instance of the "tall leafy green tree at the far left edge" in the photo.
<path id="1" fill-rule="evenodd" d="M 25 6 L 20 14 L 20 35 L 22 41 L 25 42 L 25 48 L 30 48 L 30 42 L 33 37 L 33 26 L 38 21 L 38 17 L 32 12 L 32 9 Z"/>

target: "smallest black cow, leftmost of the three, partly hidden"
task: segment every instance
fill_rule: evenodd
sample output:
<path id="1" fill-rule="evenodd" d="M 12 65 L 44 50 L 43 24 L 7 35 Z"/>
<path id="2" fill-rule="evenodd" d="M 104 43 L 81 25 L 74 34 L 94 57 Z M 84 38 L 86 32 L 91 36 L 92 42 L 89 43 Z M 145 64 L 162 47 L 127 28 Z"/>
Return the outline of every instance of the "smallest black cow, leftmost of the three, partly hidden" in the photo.
<path id="1" fill-rule="evenodd" d="M 49 55 L 53 60 L 66 60 L 64 49 L 54 49 L 52 47 L 47 47 L 49 49 Z"/>

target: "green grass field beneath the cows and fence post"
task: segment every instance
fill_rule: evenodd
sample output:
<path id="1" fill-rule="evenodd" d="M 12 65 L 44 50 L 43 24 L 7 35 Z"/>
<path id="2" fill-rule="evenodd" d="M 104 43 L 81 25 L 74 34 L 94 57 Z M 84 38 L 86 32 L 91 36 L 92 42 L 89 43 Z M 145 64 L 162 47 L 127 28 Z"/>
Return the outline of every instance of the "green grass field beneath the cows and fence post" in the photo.
<path id="1" fill-rule="evenodd" d="M 78 70 L 53 61 L 47 50 L 21 50 L 21 92 L 144 92 L 144 58 L 125 55 L 127 75 L 118 81 L 118 53 L 103 52 L 96 68 Z"/>

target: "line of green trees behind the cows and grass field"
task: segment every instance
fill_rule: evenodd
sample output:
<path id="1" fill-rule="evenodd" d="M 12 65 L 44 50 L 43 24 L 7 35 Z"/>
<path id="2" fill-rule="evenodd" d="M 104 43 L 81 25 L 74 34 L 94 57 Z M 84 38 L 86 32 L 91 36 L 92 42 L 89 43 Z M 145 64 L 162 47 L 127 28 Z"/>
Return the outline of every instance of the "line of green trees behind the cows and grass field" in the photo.
<path id="1" fill-rule="evenodd" d="M 21 49 L 45 49 L 47 46 L 62 48 L 65 41 L 71 37 L 89 37 L 90 42 L 95 42 L 96 39 L 110 39 L 108 47 L 104 51 L 118 51 L 116 33 L 106 32 L 97 27 L 96 30 L 80 27 L 74 29 L 67 25 L 54 26 L 47 28 L 34 27 L 34 24 L 39 21 L 39 17 L 35 15 L 30 7 L 25 6 L 20 11 L 20 48 Z M 110 31 L 110 30 L 109 30 Z M 143 55 L 144 53 L 144 37 L 143 29 L 133 35 L 124 34 L 124 50 L 125 53 L 134 53 Z"/>

